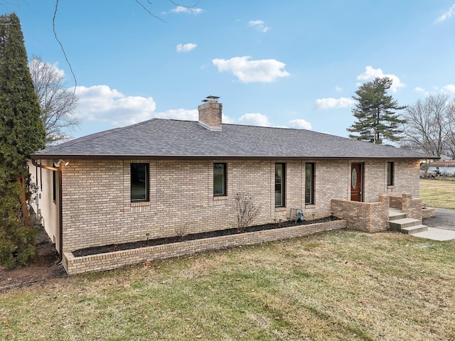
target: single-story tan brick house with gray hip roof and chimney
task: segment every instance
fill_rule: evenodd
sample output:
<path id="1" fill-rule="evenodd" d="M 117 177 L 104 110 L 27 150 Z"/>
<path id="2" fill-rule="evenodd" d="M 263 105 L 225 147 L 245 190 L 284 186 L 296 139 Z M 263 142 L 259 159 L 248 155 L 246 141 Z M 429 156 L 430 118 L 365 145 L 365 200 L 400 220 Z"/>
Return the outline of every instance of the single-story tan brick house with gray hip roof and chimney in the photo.
<path id="1" fill-rule="evenodd" d="M 218 97 L 198 109 L 199 121 L 151 119 L 29 156 L 33 208 L 67 271 L 77 249 L 237 227 L 237 193 L 259 205 L 254 224 L 289 220 L 300 208 L 306 220 L 336 215 L 375 232 L 387 229 L 389 205 L 422 219 L 427 154 L 222 124 Z"/>

